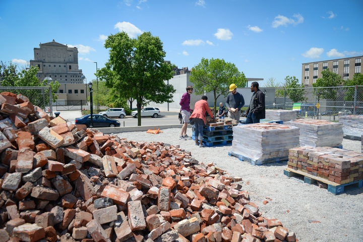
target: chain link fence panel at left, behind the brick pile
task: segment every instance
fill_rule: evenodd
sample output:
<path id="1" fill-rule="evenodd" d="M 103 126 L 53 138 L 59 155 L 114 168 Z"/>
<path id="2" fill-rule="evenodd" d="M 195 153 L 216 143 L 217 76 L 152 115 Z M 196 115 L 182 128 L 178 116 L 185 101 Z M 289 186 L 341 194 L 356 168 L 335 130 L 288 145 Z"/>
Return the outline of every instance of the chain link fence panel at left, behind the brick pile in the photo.
<path id="1" fill-rule="evenodd" d="M 1 92 L 12 92 L 26 96 L 34 106 L 52 115 L 52 95 L 50 86 L 0 86 Z"/>

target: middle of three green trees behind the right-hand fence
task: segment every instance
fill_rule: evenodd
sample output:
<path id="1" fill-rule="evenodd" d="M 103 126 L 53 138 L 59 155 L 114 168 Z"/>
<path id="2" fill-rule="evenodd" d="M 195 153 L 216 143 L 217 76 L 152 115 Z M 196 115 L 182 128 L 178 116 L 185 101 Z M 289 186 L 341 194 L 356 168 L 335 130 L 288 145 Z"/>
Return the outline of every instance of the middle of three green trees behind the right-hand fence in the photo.
<path id="1" fill-rule="evenodd" d="M 320 99 L 336 100 L 337 89 L 324 87 L 340 86 L 343 83 L 343 79 L 339 74 L 336 74 L 329 69 L 325 69 L 321 73 L 322 77 L 318 78 L 316 82 L 313 83 L 313 87 L 317 87 L 318 103 L 320 102 Z"/>

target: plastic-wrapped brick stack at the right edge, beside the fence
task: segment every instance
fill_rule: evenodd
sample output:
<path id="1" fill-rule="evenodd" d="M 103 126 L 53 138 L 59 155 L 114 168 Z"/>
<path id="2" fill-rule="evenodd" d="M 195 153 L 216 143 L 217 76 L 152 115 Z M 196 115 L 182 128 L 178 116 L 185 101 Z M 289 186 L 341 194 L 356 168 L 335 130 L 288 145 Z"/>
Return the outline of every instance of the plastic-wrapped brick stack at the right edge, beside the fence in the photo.
<path id="1" fill-rule="evenodd" d="M 342 115 L 339 116 L 339 123 L 343 124 L 343 133 L 348 138 L 359 139 L 363 134 L 363 115 Z"/>

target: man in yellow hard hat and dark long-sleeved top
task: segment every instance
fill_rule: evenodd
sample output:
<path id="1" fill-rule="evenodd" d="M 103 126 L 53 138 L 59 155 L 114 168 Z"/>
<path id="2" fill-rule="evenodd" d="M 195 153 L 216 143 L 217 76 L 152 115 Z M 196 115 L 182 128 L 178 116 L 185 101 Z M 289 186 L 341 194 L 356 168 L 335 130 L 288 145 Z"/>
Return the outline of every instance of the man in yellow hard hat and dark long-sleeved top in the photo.
<path id="1" fill-rule="evenodd" d="M 237 92 L 235 84 L 229 85 L 230 93 L 227 95 L 226 107 L 228 108 L 228 117 L 239 122 L 240 110 L 245 105 L 243 95 Z"/>

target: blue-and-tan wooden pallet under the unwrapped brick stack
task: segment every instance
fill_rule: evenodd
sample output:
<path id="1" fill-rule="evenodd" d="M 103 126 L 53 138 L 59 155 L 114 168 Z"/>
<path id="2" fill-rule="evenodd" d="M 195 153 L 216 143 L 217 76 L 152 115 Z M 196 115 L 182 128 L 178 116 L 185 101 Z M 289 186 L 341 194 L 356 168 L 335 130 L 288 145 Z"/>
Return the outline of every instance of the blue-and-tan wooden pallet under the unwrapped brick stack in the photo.
<path id="1" fill-rule="evenodd" d="M 360 188 L 363 185 L 363 180 L 353 181 L 353 182 L 349 182 L 349 183 L 345 183 L 345 184 L 338 184 L 338 183 L 329 181 L 327 179 L 324 179 L 324 178 L 321 178 L 318 176 L 310 175 L 304 171 L 294 170 L 291 168 L 284 169 L 284 175 L 286 175 L 288 177 L 303 176 L 304 182 L 308 183 L 308 184 L 315 184 L 317 181 L 320 181 L 322 183 L 327 184 L 328 191 L 333 193 L 334 195 L 337 195 L 339 193 L 343 193 L 343 192 L 346 192 L 349 190 L 354 190 L 354 189 Z"/>

